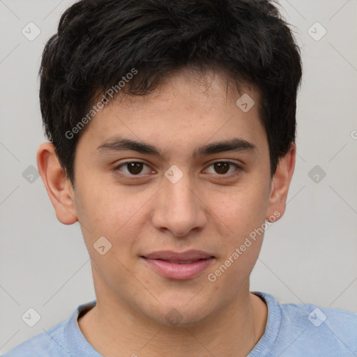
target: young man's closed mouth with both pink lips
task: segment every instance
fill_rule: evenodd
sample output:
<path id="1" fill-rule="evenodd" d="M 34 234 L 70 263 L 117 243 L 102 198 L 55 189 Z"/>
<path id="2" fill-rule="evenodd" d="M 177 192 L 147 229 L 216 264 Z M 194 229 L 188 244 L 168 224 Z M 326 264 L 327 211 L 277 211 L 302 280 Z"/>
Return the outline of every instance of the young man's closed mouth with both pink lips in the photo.
<path id="1" fill-rule="evenodd" d="M 142 255 L 141 258 L 155 273 L 176 280 L 196 278 L 215 260 L 213 255 L 200 250 L 181 253 L 165 250 Z"/>

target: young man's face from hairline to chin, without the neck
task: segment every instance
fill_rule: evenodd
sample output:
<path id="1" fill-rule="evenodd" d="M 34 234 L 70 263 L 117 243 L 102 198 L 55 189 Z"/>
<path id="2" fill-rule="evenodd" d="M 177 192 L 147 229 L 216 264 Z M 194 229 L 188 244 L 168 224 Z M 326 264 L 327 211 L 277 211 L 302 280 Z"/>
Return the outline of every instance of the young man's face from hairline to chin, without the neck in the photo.
<path id="1" fill-rule="evenodd" d="M 98 303 L 194 324 L 248 291 L 261 228 L 282 209 L 258 93 L 245 89 L 247 112 L 220 77 L 210 84 L 181 73 L 113 100 L 79 139 L 71 197 Z"/>

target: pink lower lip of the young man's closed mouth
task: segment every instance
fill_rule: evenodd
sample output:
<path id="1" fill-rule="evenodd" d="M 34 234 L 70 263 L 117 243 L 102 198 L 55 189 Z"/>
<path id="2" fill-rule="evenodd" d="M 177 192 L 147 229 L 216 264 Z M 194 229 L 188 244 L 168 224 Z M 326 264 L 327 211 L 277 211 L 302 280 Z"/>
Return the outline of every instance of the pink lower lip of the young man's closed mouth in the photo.
<path id="1" fill-rule="evenodd" d="M 160 259 L 143 258 L 153 270 L 167 279 L 192 279 L 202 273 L 214 258 L 197 260 L 190 264 L 174 264 Z"/>

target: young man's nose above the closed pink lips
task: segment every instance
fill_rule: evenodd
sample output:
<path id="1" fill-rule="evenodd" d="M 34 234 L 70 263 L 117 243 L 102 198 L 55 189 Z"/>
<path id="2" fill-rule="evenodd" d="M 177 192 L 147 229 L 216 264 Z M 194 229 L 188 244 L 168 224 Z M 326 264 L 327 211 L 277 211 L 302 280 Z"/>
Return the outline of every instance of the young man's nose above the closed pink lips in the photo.
<path id="1" fill-rule="evenodd" d="M 169 230 L 177 237 L 188 236 L 190 231 L 202 229 L 207 222 L 205 205 L 200 192 L 191 188 L 190 175 L 183 174 L 173 183 L 164 178 L 158 191 L 152 222 L 160 231 Z"/>

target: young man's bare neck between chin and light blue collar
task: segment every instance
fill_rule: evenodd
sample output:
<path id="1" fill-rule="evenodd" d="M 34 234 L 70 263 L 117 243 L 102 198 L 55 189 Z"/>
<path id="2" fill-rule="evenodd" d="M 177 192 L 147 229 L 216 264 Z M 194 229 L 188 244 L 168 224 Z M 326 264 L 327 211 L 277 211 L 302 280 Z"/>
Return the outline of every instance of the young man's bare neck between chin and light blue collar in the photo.
<path id="1" fill-rule="evenodd" d="M 132 307 L 97 295 L 97 305 L 79 318 L 84 337 L 100 354 L 114 356 L 247 356 L 264 334 L 267 308 L 250 294 L 249 282 L 233 303 L 190 326 L 166 326 Z"/>

